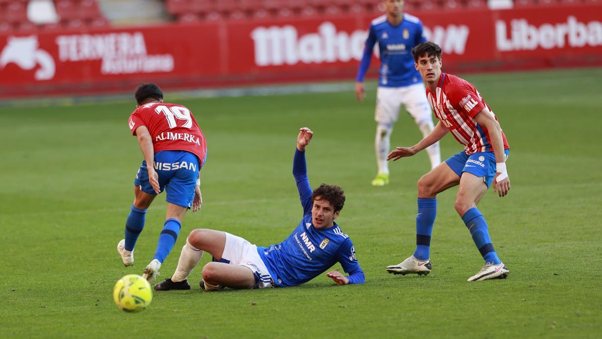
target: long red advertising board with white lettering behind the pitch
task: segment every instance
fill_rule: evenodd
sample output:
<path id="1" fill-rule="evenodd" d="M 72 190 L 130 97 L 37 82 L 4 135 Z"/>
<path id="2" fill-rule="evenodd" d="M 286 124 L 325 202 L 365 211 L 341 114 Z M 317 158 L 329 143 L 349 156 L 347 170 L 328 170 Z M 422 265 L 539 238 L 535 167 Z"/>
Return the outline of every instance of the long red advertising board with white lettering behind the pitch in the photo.
<path id="1" fill-rule="evenodd" d="M 445 71 L 602 65 L 602 5 L 415 13 Z M 0 97 L 355 77 L 371 17 L 0 35 Z M 372 75 L 378 61 L 373 57 Z"/>

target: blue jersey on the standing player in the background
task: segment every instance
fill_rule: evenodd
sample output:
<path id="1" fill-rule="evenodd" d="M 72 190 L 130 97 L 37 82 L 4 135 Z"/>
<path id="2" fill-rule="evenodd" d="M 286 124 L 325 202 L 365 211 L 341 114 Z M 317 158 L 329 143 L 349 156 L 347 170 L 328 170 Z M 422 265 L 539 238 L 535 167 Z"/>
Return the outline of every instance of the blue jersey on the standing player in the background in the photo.
<path id="1" fill-rule="evenodd" d="M 425 41 L 422 22 L 417 17 L 404 13 L 403 21 L 397 26 L 391 25 L 386 15 L 377 17 L 370 24 L 356 80 L 364 81 L 365 72 L 370 66 L 372 49 L 378 42 L 379 86 L 403 87 L 422 81 L 420 73 L 414 67 L 412 48 Z"/>

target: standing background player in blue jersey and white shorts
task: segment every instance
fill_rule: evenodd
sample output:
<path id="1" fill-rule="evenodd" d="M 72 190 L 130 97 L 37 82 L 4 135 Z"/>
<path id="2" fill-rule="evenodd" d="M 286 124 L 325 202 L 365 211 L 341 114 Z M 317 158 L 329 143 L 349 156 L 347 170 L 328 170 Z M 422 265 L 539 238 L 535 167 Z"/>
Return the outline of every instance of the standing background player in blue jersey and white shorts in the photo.
<path id="1" fill-rule="evenodd" d="M 373 186 L 384 186 L 389 183 L 386 156 L 391 147 L 393 124 L 399 118 L 402 104 L 408 114 L 414 118 L 423 136 L 429 135 L 435 126 L 429 102 L 424 94 L 426 89 L 420 74 L 414 68 L 414 58 L 411 54 L 414 46 L 426 41 L 422 22 L 415 16 L 403 13 L 403 0 L 383 2 L 386 14 L 377 17 L 370 24 L 364 56 L 359 65 L 355 84 L 355 96 L 359 102 L 363 102 L 364 75 L 370 67 L 374 44 L 378 42 L 380 77 L 374 113 L 374 120 L 377 122 L 374 146 L 378 173 L 372 180 Z M 433 144 L 426 151 L 429 154 L 431 168 L 435 168 L 441 163 L 439 143 Z"/>

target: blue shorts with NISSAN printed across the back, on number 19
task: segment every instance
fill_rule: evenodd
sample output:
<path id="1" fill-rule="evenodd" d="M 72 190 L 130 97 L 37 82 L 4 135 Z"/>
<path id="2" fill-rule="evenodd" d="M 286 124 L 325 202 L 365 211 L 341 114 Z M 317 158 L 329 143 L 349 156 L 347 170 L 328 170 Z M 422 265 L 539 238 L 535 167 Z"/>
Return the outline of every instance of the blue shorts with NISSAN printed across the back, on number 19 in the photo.
<path id="1" fill-rule="evenodd" d="M 161 192 L 167 191 L 168 203 L 190 208 L 194 199 L 196 179 L 199 178 L 199 158 L 187 151 L 160 151 L 155 153 L 155 171 L 159 175 Z M 149 182 L 146 161 L 138 169 L 134 186 L 148 194 L 156 194 Z"/>

